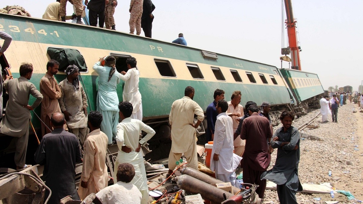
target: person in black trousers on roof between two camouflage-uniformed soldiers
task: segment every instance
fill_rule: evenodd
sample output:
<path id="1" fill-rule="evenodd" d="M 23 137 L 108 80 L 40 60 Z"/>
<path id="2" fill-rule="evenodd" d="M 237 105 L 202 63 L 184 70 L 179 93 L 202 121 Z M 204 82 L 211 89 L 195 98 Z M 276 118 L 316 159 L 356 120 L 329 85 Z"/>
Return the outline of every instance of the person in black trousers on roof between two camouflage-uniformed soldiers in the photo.
<path id="1" fill-rule="evenodd" d="M 88 9 L 88 20 L 90 22 L 90 26 L 97 26 L 103 28 L 105 24 L 105 4 L 107 4 L 109 0 L 85 0 L 85 5 Z"/>

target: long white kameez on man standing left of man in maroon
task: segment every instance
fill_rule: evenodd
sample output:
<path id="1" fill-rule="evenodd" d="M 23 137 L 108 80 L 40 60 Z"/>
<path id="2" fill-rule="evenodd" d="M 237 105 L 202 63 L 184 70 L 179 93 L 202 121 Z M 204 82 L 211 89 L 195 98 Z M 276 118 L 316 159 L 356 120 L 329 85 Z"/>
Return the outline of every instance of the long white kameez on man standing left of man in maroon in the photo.
<path id="1" fill-rule="evenodd" d="M 217 115 L 211 156 L 211 170 L 216 175 L 234 172 L 232 170 L 234 149 L 232 123 L 232 118 L 226 113 Z M 214 154 L 219 155 L 218 161 L 213 159 Z"/>

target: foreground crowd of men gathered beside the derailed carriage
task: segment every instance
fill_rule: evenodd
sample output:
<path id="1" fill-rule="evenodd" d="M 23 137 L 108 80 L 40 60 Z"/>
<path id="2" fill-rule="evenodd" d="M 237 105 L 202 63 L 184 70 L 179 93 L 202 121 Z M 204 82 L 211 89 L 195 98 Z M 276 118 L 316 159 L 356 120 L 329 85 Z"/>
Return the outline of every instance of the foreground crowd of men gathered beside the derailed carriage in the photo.
<path id="1" fill-rule="evenodd" d="M 1 36 L 6 38 L 3 32 L 0 32 Z M 1 54 L 7 47 L 2 48 Z M 50 203 L 59 203 L 69 195 L 77 200 L 96 193 L 102 203 L 118 203 L 117 200 L 122 198 L 130 203 L 147 204 L 146 171 L 140 150 L 155 131 L 142 122 L 140 73 L 136 69 L 136 59 L 130 57 L 126 60 L 127 72 L 119 73 L 115 63 L 113 56 L 107 56 L 100 57 L 94 64 L 93 70 L 99 76 L 97 111 L 90 113 L 87 113 L 87 95 L 78 80 L 79 68 L 75 65 L 66 68 L 66 78 L 58 83 L 54 75 L 58 73 L 59 62 L 50 60 L 46 64 L 46 74 L 40 80 L 40 91 L 28 81 L 33 73 L 30 63 L 20 65 L 19 78 L 4 75 L 3 87 L 9 100 L 0 122 L 0 133 L 16 139 L 14 160 L 17 169 L 30 166 L 25 164 L 30 110 L 41 103 L 42 139 L 34 160 L 44 165 L 43 180 L 52 190 Z M 116 91 L 121 80 L 125 81 L 123 102 L 118 101 Z M 30 94 L 36 98 L 32 105 L 28 105 Z M 296 203 L 295 193 L 301 185 L 297 174 L 299 136 L 297 129 L 291 126 L 293 113 L 282 112 L 283 127 L 273 134 L 268 102 L 263 102 L 258 108 L 255 102 L 248 101 L 244 113 L 240 105 L 241 91 L 234 91 L 228 102 L 224 100 L 224 94 L 224 90 L 216 89 L 213 102 L 207 107 L 207 136 L 213 141 L 211 170 L 216 178 L 239 187 L 235 170 L 240 164 L 244 182 L 260 186 L 256 191 L 260 198 L 264 197 L 266 179 L 269 179 L 277 183 L 281 203 Z M 198 169 L 196 128 L 205 116 L 203 109 L 193 101 L 194 95 L 195 89 L 187 86 L 184 97 L 171 105 L 171 150 L 166 178 L 170 178 L 182 155 L 188 167 Z M 142 136 L 142 131 L 146 135 Z M 107 145 L 114 143 L 119 148 L 114 169 L 117 178 L 114 185 L 107 187 Z M 272 170 L 266 171 L 274 148 L 281 157 Z M 286 162 L 291 158 L 293 162 Z M 77 191 L 75 167 L 81 162 L 81 182 Z"/>

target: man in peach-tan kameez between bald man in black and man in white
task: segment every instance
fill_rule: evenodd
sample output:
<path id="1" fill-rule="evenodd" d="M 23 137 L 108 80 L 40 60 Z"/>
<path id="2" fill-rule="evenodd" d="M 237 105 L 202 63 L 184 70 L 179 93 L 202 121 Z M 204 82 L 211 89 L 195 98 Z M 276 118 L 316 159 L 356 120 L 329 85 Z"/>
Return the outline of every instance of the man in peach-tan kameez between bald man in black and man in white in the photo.
<path id="1" fill-rule="evenodd" d="M 83 200 L 91 193 L 97 193 L 107 187 L 108 173 L 106 166 L 106 152 L 108 138 L 99 128 L 102 115 L 98 111 L 91 111 L 88 115 L 90 133 L 83 146 L 83 166 L 78 195 Z"/>

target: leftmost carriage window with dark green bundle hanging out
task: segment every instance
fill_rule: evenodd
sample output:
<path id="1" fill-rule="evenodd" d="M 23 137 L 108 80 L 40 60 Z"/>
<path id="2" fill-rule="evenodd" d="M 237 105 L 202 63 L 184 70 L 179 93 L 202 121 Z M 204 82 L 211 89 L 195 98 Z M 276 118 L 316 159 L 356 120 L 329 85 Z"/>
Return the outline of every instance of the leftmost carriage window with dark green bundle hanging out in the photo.
<path id="1" fill-rule="evenodd" d="M 77 65 L 80 73 L 88 73 L 85 58 L 77 49 L 48 48 L 47 54 L 51 60 L 59 62 L 60 72 L 64 72 L 69 65 Z"/>

